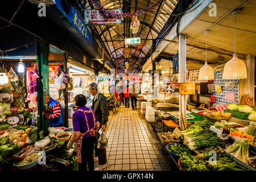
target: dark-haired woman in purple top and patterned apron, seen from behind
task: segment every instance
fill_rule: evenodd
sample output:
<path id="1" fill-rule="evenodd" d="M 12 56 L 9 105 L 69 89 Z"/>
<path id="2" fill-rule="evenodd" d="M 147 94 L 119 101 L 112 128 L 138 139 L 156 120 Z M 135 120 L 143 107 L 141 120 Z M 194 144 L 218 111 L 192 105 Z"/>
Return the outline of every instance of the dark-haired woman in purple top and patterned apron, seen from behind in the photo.
<path id="1" fill-rule="evenodd" d="M 76 142 L 76 156 L 79 162 L 79 171 L 86 171 L 86 165 L 90 171 L 94 171 L 93 148 L 96 140 L 96 132 L 100 123 L 91 109 L 85 107 L 86 97 L 79 94 L 75 97 L 77 111 L 72 116 L 73 133 L 67 147 L 71 148 Z"/>

